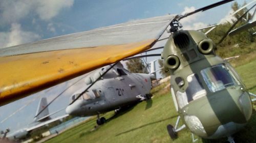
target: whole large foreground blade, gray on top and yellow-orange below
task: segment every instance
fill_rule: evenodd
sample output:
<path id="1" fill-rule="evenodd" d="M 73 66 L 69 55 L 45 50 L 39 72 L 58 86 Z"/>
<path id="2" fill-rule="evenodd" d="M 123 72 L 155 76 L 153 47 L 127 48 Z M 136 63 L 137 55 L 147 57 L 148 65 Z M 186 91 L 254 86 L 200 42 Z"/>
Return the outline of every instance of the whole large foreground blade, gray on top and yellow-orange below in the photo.
<path id="1" fill-rule="evenodd" d="M 151 48 L 176 15 L 0 49 L 0 105 Z"/>

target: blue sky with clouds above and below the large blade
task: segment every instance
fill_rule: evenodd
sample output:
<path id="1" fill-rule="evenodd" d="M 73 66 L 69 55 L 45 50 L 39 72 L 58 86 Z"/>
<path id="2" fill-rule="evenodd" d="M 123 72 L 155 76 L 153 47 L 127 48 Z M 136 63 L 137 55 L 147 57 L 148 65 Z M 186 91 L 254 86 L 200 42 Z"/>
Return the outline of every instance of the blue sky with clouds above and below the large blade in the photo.
<path id="1" fill-rule="evenodd" d="M 184 14 L 218 1 L 170 1 L 170 0 L 1 0 L 0 1 L 0 48 L 92 30 L 102 26 L 132 20 Z M 244 1 L 237 1 L 240 5 Z M 250 1 L 247 1 L 250 2 Z M 200 12 L 182 19 L 183 29 L 198 29 L 209 24 L 230 20 L 231 3 Z M 225 18 L 225 19 L 224 19 Z M 159 43 L 162 46 L 164 43 Z M 155 51 L 160 53 L 161 51 Z M 148 58 L 148 61 L 156 58 Z M 158 67 L 157 67 L 158 68 Z M 159 74 L 158 74 L 159 75 Z M 11 131 L 23 128 L 33 121 L 40 97 L 48 101 L 62 92 L 68 85 L 65 82 L 51 89 L 17 100 L 0 107 L 0 130 Z M 49 106 L 50 112 L 64 108 L 69 97 L 83 85 L 80 82 L 69 89 Z M 64 111 L 58 115 L 65 114 Z M 7 120 L 5 120 L 7 119 Z"/>

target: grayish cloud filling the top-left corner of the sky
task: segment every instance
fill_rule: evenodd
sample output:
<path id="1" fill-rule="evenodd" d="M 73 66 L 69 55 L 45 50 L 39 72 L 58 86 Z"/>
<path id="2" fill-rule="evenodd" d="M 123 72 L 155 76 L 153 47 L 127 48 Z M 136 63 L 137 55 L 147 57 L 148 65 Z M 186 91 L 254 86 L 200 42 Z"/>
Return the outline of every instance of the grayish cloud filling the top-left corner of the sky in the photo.
<path id="1" fill-rule="evenodd" d="M 62 9 L 70 8 L 74 0 L 1 0 L 0 1 L 0 24 L 11 24 L 27 17 L 29 14 L 36 14 L 42 20 L 50 20 Z"/>

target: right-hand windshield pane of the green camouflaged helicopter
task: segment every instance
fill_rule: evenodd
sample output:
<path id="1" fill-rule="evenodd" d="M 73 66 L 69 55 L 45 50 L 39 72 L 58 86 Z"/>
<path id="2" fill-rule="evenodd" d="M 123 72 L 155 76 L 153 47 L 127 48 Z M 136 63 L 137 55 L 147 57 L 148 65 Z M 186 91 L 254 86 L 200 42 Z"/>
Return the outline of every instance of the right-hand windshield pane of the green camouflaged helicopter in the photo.
<path id="1" fill-rule="evenodd" d="M 223 64 L 201 70 L 204 81 L 211 92 L 217 92 L 236 84 Z"/>

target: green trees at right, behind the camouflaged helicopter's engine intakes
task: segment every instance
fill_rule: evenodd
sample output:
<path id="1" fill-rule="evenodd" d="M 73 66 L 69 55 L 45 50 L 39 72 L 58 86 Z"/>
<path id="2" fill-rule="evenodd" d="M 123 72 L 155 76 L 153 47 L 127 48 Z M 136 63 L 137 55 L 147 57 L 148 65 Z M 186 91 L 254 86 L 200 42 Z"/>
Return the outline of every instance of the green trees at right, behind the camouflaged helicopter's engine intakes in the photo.
<path id="1" fill-rule="evenodd" d="M 240 7 L 241 6 L 239 6 L 236 2 L 233 3 L 231 6 L 233 11 L 240 9 Z M 220 39 L 225 35 L 225 33 L 229 30 L 233 22 L 236 21 L 246 11 L 247 9 L 244 9 L 240 11 L 238 14 L 236 14 L 234 16 L 235 20 L 218 25 L 213 31 L 208 33 L 207 36 L 210 39 L 212 39 L 215 43 L 218 43 Z M 249 17 L 250 16 L 251 15 L 249 15 Z M 237 28 L 245 23 L 246 23 L 245 21 L 241 20 L 240 22 L 238 22 L 238 24 L 234 28 Z M 253 36 L 252 33 L 253 31 L 247 30 L 247 31 L 240 32 L 239 34 L 236 34 L 234 36 L 227 36 L 221 44 L 217 44 L 218 50 L 216 51 L 216 53 L 220 55 L 222 58 L 242 55 L 241 58 L 239 59 L 234 59 L 232 61 L 229 61 L 231 62 L 231 64 L 233 64 L 233 66 L 238 66 L 237 63 L 239 62 L 237 61 L 244 60 L 244 59 L 248 60 L 248 58 L 251 57 L 250 56 L 251 53 L 253 53 L 256 50 L 256 46 L 255 46 L 256 44 L 254 42 L 256 40 L 256 37 Z"/>

